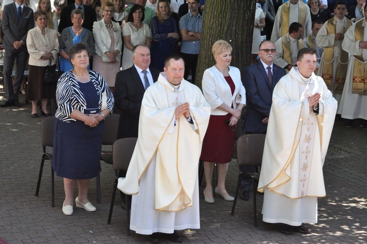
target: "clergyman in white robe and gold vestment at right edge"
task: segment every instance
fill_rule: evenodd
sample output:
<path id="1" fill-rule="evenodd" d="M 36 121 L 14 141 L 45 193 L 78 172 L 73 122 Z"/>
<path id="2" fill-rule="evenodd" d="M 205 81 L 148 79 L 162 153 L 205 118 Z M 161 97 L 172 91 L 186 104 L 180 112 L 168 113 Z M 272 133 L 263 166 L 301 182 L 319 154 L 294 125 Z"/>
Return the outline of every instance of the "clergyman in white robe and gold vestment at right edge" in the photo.
<path id="1" fill-rule="evenodd" d="M 365 6 L 365 11 L 367 10 Z M 366 13 L 366 12 L 365 12 Z M 367 129 L 367 15 L 345 33 L 343 49 L 350 54 L 338 114 L 351 126 L 354 119 Z M 347 125 L 347 124 L 346 124 Z"/>

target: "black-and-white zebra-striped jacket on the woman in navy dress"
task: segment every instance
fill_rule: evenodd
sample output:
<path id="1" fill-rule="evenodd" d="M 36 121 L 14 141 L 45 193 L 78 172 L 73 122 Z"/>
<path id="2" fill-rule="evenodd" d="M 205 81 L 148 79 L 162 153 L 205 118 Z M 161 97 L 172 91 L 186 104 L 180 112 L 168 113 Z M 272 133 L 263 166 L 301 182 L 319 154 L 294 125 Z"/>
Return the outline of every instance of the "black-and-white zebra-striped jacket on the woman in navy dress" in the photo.
<path id="1" fill-rule="evenodd" d="M 108 88 L 102 75 L 95 71 L 89 71 L 91 82 L 99 95 L 99 109 L 102 105 L 102 93 L 107 94 L 107 108 L 112 112 L 114 109 L 114 96 Z M 87 108 L 87 103 L 84 95 L 80 92 L 78 80 L 74 77 L 72 70 L 63 73 L 57 82 L 56 100 L 58 109 L 55 117 L 63 122 L 75 122 L 75 119 L 70 118 L 70 114 L 74 109 L 84 113 Z"/>

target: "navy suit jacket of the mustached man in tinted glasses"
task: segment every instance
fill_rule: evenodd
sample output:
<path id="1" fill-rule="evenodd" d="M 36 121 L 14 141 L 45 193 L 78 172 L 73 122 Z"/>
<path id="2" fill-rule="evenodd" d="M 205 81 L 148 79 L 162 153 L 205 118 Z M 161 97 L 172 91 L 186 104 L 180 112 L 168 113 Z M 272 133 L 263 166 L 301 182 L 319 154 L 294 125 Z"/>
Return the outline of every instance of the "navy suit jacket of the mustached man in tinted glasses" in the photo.
<path id="1" fill-rule="evenodd" d="M 273 90 L 285 70 L 273 63 L 273 84 L 270 85 L 268 73 L 261 61 L 245 67 L 243 77 L 246 89 L 246 119 L 244 131 L 265 134 L 268 127 L 262 120 L 269 117 L 272 106 Z"/>

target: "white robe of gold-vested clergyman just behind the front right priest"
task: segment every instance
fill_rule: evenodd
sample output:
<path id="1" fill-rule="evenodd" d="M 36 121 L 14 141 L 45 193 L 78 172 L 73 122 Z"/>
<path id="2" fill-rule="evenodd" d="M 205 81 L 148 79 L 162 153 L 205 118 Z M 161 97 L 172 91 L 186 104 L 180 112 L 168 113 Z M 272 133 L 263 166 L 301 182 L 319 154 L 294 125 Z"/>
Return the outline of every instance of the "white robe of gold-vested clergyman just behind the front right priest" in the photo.
<path id="1" fill-rule="evenodd" d="M 329 19 L 328 21 L 334 21 L 336 23 L 336 32 L 335 33 L 344 33 L 344 26 L 346 25 L 346 18 L 343 20 L 338 20 L 338 18 L 334 17 Z M 327 22 L 328 22 L 327 21 Z M 325 22 L 319 32 L 317 33 L 316 40 L 317 44 L 320 48 L 326 47 L 334 47 L 334 58 L 333 58 L 333 81 L 331 86 L 331 92 L 333 93 L 334 98 L 340 103 L 341 94 L 334 93 L 334 86 L 335 86 L 335 79 L 337 76 L 338 71 L 338 64 L 339 64 L 339 56 L 340 51 L 342 50 L 342 43 L 343 40 L 335 40 L 335 34 L 327 34 L 327 22 Z M 321 76 L 323 70 L 323 63 L 324 63 L 325 52 L 322 53 L 321 61 L 320 61 L 320 68 L 317 75 Z"/>

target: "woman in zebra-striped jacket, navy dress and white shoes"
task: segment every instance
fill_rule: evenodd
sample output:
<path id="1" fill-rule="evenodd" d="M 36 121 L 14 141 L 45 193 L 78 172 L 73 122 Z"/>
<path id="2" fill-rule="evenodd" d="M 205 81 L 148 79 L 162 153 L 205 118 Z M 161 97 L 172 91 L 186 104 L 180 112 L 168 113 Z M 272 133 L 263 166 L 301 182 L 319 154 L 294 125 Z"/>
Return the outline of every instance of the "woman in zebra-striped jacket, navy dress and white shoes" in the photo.
<path id="1" fill-rule="evenodd" d="M 65 215 L 73 213 L 76 183 L 76 206 L 96 210 L 88 200 L 89 181 L 101 171 L 103 122 L 114 108 L 114 97 L 100 73 L 87 69 L 90 56 L 85 43 L 75 44 L 69 51 L 73 69 L 57 83 L 52 168 L 64 178 Z"/>

